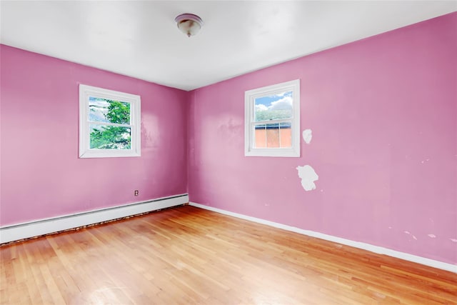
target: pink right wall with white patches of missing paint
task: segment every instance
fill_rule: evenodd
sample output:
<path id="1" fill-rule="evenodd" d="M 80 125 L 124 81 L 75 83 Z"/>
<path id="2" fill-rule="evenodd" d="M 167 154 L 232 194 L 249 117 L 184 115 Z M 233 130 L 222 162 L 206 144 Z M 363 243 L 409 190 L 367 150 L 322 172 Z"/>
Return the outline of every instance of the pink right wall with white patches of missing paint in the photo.
<path id="1" fill-rule="evenodd" d="M 190 200 L 456 264 L 456 54 L 453 13 L 193 91 Z M 244 91 L 293 79 L 311 144 L 245 157 Z"/>

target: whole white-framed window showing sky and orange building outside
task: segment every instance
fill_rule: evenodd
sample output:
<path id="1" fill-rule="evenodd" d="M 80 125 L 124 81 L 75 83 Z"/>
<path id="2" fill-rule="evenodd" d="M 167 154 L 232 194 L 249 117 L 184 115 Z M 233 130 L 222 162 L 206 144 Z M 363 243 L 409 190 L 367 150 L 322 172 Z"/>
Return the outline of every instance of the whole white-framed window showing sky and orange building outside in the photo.
<path id="1" fill-rule="evenodd" d="M 246 91 L 245 156 L 300 156 L 300 80 Z"/>

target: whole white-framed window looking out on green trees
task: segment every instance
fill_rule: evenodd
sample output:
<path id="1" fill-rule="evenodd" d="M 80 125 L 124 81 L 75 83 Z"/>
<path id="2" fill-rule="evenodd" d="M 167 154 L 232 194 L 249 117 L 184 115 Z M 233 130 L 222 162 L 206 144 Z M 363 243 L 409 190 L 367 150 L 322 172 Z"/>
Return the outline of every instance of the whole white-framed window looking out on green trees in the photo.
<path id="1" fill-rule="evenodd" d="M 79 85 L 79 157 L 141 156 L 141 99 Z"/>

